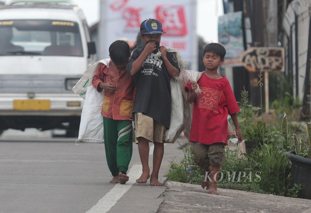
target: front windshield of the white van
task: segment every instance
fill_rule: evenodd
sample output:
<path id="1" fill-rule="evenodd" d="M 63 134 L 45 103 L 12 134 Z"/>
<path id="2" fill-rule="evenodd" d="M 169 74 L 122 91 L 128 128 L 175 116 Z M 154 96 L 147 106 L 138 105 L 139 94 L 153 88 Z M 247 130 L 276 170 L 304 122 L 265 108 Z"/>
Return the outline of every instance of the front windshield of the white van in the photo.
<path id="1" fill-rule="evenodd" d="M 0 55 L 83 56 L 79 26 L 62 20 L 0 20 Z"/>

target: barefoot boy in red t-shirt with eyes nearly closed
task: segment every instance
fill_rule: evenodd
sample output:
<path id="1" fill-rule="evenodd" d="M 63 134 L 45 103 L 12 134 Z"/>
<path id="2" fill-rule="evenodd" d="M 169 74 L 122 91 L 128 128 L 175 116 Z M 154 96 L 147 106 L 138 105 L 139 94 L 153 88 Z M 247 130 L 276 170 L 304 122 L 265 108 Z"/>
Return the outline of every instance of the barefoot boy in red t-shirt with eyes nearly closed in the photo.
<path id="1" fill-rule="evenodd" d="M 220 166 L 224 164 L 227 142 L 228 114 L 234 123 L 238 142 L 243 136 L 236 113 L 239 106 L 235 100 L 228 79 L 217 73 L 218 66 L 224 62 L 225 48 L 218 43 L 210 43 L 203 51 L 203 62 L 206 67 L 201 77 L 185 86 L 188 92 L 187 101 L 193 103 L 193 116 L 190 132 L 190 144 L 194 153 L 194 161 L 202 170 L 209 172 L 210 182 L 203 181 L 202 188 L 208 193 L 218 194 L 217 179 Z M 201 92 L 195 93 L 199 87 Z"/>

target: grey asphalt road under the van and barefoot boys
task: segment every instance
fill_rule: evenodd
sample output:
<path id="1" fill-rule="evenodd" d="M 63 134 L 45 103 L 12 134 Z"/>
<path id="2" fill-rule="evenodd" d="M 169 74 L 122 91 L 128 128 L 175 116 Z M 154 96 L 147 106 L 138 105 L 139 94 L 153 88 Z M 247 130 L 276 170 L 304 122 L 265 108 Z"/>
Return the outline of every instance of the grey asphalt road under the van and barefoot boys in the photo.
<path id="1" fill-rule="evenodd" d="M 165 187 L 135 183 L 141 163 L 137 145 L 125 185 L 109 184 L 112 178 L 104 144 L 80 143 L 76 138 L 52 138 L 51 131 L 5 131 L 0 136 L 0 212 L 79 213 L 156 212 Z M 185 143 L 184 139 L 179 139 Z M 151 149 L 152 149 L 152 144 Z M 181 158 L 178 143 L 166 144 L 159 176 L 169 161 Z M 152 160 L 150 153 L 149 165 Z"/>

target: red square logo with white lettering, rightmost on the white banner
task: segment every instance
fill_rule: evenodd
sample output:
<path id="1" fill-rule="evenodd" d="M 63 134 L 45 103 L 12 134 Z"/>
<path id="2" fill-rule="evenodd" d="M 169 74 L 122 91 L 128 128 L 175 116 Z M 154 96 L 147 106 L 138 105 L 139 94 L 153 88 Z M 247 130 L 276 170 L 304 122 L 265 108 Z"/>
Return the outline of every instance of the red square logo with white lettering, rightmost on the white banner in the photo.
<path id="1" fill-rule="evenodd" d="M 186 15 L 183 6 L 158 6 L 156 19 L 162 23 L 164 35 L 183 36 L 187 34 Z"/>

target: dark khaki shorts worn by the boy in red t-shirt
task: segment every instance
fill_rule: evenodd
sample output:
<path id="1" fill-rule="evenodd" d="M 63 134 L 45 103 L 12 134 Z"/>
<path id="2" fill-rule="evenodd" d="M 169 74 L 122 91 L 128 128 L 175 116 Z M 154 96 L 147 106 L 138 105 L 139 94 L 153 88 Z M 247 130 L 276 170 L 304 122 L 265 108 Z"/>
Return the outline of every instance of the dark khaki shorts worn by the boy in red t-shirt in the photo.
<path id="1" fill-rule="evenodd" d="M 225 155 L 224 143 L 213 143 L 206 145 L 204 143 L 189 142 L 193 150 L 193 160 L 204 171 L 210 165 L 221 166 L 225 163 L 227 156 Z"/>

